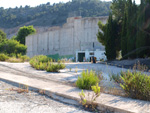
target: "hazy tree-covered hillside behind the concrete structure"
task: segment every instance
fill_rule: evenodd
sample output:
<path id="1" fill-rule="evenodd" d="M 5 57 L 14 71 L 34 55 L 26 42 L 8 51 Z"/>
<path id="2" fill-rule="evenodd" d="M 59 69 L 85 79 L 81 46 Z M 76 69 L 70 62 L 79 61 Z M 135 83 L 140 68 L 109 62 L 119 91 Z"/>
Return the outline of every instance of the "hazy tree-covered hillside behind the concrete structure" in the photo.
<path id="1" fill-rule="evenodd" d="M 23 25 L 50 27 L 62 25 L 68 16 L 107 16 L 111 2 L 100 0 L 72 0 L 58 4 L 41 4 L 37 7 L 0 8 L 0 28 L 8 29 Z"/>

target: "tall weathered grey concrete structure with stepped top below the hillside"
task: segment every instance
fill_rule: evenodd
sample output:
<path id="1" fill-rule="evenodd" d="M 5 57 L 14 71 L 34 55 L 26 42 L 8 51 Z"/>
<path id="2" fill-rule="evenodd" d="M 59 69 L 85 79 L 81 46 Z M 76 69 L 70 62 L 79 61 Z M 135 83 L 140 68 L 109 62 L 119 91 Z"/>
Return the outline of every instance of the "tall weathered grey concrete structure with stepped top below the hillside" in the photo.
<path id="1" fill-rule="evenodd" d="M 76 51 L 104 50 L 98 42 L 98 22 L 107 22 L 108 17 L 71 17 L 62 27 L 51 27 L 50 31 L 26 37 L 27 55 L 74 55 Z M 93 47 L 94 45 L 94 47 Z"/>

